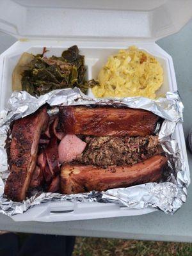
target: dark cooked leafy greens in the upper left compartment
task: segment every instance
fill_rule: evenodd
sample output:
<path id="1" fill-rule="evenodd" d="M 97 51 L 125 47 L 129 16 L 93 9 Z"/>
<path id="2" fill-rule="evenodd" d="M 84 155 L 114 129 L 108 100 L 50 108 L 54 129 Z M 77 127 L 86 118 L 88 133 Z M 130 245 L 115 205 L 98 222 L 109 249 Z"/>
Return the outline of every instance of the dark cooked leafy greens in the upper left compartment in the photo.
<path id="1" fill-rule="evenodd" d="M 61 57 L 47 58 L 44 56 L 45 52 L 44 48 L 42 54 L 28 54 L 30 61 L 26 65 L 22 61 L 22 68 L 19 68 L 22 72 L 17 76 L 20 77 L 20 84 L 16 86 L 17 88 L 21 87 L 20 90 L 39 96 L 52 90 L 74 88 L 75 86 L 86 93 L 88 88 L 97 84 L 93 80 L 85 81 L 84 56 L 79 54 L 77 45 L 63 51 Z M 15 70 L 18 70 L 18 67 L 15 67 Z"/>

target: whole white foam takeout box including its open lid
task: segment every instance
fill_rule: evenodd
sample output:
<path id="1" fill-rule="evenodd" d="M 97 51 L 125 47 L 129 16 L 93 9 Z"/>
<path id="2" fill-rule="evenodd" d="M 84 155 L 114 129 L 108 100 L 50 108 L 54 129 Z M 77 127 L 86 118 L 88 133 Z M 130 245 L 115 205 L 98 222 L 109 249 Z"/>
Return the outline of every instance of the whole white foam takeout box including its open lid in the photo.
<path id="1" fill-rule="evenodd" d="M 0 30 L 18 41 L 0 57 L 0 110 L 12 93 L 12 72 L 23 52 L 60 56 L 76 44 L 85 56 L 87 79 L 96 78 L 109 55 L 136 45 L 156 56 L 164 70 L 163 86 L 157 93 L 177 90 L 172 57 L 156 40 L 179 31 L 192 16 L 191 0 L 1 0 Z M 175 42 L 177 44 L 177 42 Z M 182 124 L 179 143 L 189 175 Z M 127 209 L 115 204 L 49 202 L 32 207 L 15 221 L 68 221 L 133 216 L 156 211 Z"/>

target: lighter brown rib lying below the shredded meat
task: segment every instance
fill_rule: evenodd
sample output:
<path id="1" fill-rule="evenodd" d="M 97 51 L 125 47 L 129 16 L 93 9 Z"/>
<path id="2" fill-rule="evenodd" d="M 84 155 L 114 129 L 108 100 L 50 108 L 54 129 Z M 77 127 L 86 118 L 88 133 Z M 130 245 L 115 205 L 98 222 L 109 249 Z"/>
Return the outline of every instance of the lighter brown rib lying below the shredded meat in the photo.
<path id="1" fill-rule="evenodd" d="M 142 163 L 108 168 L 64 164 L 61 168 L 61 191 L 76 194 L 157 182 L 162 177 L 166 162 L 165 156 L 157 155 Z"/>

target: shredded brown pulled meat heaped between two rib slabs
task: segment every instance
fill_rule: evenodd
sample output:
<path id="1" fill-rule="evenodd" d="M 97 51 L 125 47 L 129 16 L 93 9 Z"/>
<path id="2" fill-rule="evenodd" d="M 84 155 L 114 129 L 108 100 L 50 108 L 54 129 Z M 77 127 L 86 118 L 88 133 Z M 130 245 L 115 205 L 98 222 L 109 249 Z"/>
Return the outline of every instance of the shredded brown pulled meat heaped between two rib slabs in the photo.
<path id="1" fill-rule="evenodd" d="M 145 137 L 92 137 L 83 154 L 77 156 L 77 163 L 97 166 L 126 165 L 141 162 L 161 152 L 157 136 Z"/>

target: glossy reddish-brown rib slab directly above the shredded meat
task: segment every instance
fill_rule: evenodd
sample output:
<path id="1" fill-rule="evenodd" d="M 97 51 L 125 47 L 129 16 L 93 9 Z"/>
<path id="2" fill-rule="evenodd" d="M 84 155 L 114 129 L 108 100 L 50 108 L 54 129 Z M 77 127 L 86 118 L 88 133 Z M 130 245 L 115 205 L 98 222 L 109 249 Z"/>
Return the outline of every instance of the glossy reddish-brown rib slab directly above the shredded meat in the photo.
<path id="1" fill-rule="evenodd" d="M 131 108 L 60 107 L 63 132 L 93 136 L 146 136 L 154 133 L 159 119 L 149 111 Z"/>

